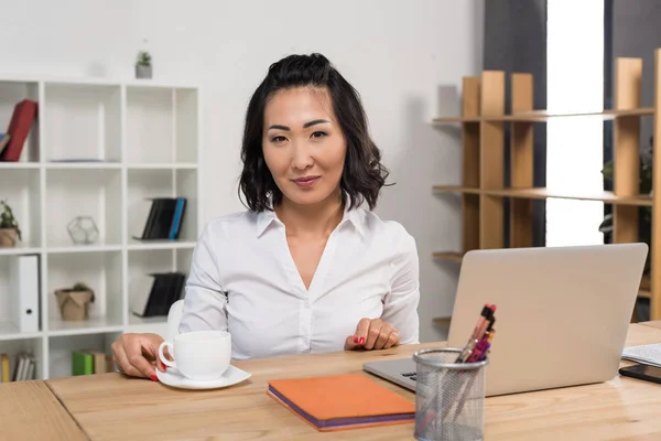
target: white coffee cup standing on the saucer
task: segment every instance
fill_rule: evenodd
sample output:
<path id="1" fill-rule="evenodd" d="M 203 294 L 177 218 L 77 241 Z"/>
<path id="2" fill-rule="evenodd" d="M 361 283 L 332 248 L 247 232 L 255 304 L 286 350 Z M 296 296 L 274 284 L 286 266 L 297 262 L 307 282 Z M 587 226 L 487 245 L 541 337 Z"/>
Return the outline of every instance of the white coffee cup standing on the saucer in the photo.
<path id="1" fill-rule="evenodd" d="M 167 347 L 174 362 L 165 358 Z M 231 359 L 231 335 L 225 331 L 195 331 L 177 334 L 174 342 L 159 346 L 159 358 L 183 376 L 195 380 L 219 378 Z"/>

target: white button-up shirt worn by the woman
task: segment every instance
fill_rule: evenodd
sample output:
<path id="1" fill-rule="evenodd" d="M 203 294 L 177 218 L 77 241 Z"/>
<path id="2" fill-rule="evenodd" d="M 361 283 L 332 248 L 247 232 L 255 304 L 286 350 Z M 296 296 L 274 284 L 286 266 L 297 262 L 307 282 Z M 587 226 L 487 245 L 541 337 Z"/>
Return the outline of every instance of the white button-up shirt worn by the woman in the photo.
<path id="1" fill-rule="evenodd" d="M 415 240 L 395 222 L 345 209 L 307 290 L 273 212 L 212 220 L 195 247 L 180 332 L 225 330 L 232 358 L 342 351 L 360 319 L 419 342 Z"/>

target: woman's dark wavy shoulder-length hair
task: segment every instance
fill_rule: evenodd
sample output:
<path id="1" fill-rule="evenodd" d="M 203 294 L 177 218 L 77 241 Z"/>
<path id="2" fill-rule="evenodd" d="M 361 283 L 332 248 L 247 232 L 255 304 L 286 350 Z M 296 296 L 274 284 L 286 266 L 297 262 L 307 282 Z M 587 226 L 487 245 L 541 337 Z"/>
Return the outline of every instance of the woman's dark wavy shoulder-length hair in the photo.
<path id="1" fill-rule="evenodd" d="M 343 202 L 349 196 L 349 208 L 367 202 L 370 209 L 377 205 L 389 171 L 381 164 L 381 151 L 371 140 L 367 116 L 358 92 L 321 54 L 290 55 L 269 67 L 267 77 L 250 98 L 241 146 L 243 170 L 239 179 L 239 197 L 254 212 L 272 209 L 282 201 L 262 152 L 264 108 L 269 99 L 292 87 L 326 88 L 333 110 L 347 142 L 347 153 L 340 179 Z M 271 205 L 272 204 L 272 205 Z"/>

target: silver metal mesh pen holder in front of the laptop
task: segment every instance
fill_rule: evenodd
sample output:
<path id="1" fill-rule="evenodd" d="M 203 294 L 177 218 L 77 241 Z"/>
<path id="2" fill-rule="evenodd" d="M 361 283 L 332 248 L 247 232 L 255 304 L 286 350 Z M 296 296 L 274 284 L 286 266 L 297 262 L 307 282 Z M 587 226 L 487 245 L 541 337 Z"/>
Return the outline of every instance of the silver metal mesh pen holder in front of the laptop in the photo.
<path id="1" fill-rule="evenodd" d="M 455 363 L 460 353 L 458 348 L 441 348 L 413 355 L 418 440 L 484 439 L 484 367 L 488 359 Z"/>

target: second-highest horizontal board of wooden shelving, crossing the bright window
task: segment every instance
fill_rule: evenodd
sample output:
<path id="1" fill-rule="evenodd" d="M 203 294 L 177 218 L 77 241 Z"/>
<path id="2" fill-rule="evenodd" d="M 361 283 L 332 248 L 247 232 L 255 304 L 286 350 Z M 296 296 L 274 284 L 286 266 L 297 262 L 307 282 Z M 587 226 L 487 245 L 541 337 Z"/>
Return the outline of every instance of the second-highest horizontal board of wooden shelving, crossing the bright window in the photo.
<path id="1" fill-rule="evenodd" d="M 516 197 L 516 198 L 529 198 L 529 200 L 545 200 L 545 198 L 560 198 L 560 200 L 579 200 L 579 201 L 598 201 L 606 204 L 616 205 L 635 205 L 635 206 L 651 206 L 652 197 L 649 195 L 639 196 L 617 196 L 613 192 L 598 192 L 593 194 L 571 194 L 550 191 L 549 189 L 502 189 L 502 190 L 480 190 L 480 189 L 468 189 L 456 185 L 435 185 L 433 187 L 435 193 L 466 193 L 466 194 L 481 194 L 487 196 L 501 196 L 501 197 Z"/>

